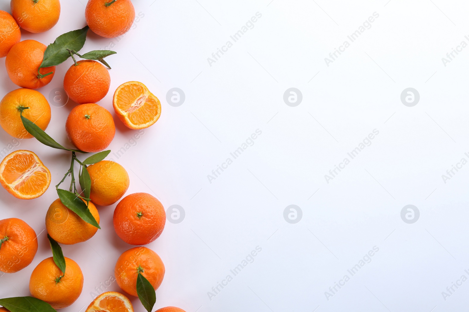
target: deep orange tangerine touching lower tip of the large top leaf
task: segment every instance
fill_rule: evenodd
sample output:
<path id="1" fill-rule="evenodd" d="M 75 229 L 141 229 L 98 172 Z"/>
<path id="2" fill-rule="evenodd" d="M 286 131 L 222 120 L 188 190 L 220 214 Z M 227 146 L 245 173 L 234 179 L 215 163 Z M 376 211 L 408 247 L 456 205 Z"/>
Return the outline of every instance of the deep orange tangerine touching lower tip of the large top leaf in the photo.
<path id="1" fill-rule="evenodd" d="M 31 1 L 32 2 L 32 1 Z M 55 74 L 55 66 L 41 68 L 39 73 L 53 72 L 44 78 L 38 78 L 38 69 L 44 59 L 47 47 L 36 40 L 23 40 L 15 44 L 5 58 L 8 77 L 17 86 L 38 89 L 44 87 Z"/>

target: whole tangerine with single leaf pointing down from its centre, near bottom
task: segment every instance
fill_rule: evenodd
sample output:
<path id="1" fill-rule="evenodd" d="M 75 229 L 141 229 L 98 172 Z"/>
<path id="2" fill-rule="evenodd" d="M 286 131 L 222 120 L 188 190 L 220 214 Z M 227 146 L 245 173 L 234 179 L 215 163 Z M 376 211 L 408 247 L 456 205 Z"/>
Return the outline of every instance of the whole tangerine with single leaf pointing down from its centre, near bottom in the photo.
<path id="1" fill-rule="evenodd" d="M 137 297 L 137 268 L 142 267 L 142 275 L 151 283 L 155 290 L 158 289 L 165 276 L 165 265 L 158 254 L 147 247 L 134 247 L 125 251 L 117 259 L 114 268 L 116 282 L 131 296 Z"/>

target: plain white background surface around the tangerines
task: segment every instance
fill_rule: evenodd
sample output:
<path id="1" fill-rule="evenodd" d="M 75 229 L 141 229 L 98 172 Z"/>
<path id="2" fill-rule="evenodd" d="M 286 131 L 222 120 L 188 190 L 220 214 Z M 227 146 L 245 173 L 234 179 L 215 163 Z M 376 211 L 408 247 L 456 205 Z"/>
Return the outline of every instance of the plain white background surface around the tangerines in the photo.
<path id="1" fill-rule="evenodd" d="M 115 44 L 117 55 L 107 58 L 111 90 L 99 102 L 112 113 L 113 90 L 129 80 L 146 84 L 162 103 L 159 121 L 136 146 L 119 159 L 111 156 L 129 172 L 127 195 L 148 192 L 165 208 L 179 204 L 186 211 L 182 223 L 166 222 L 148 246 L 166 266 L 155 309 L 439 312 L 469 304 L 469 282 L 442 296 L 461 275 L 469 277 L 469 165 L 446 183 L 441 177 L 461 158 L 469 160 L 469 47 L 446 67 L 441 60 L 461 41 L 469 44 L 465 1 L 133 2 L 144 15 L 133 29 L 120 41 L 90 31 L 82 51 Z M 82 28 L 85 5 L 62 1 L 53 29 L 23 32 L 22 39 L 49 44 Z M 9 11 L 8 4 L 1 9 Z M 212 52 L 256 12 L 262 17 L 255 27 L 210 66 Z M 373 12 L 379 17 L 371 29 L 327 66 L 324 58 Z M 49 98 L 70 65 L 58 66 L 39 91 Z M 6 94 L 16 86 L 3 60 L 0 71 Z M 179 107 L 166 102 L 173 87 L 186 95 Z M 283 101 L 290 87 L 303 94 L 296 107 Z M 401 102 L 407 87 L 420 94 L 414 107 Z M 76 104 L 53 104 L 47 132 L 65 144 L 65 120 Z M 136 133 L 115 121 L 113 152 Z M 207 175 L 257 129 L 262 134 L 254 145 L 210 183 Z M 374 129 L 379 134 L 371 146 L 327 183 L 324 175 Z M 0 147 L 11 141 L 0 131 Z M 67 171 L 68 152 L 35 139 L 18 148 L 39 155 L 51 170 L 51 185 Z M 41 233 L 32 264 L 0 277 L 0 297 L 29 295 L 31 271 L 51 256 L 42 231 L 56 198 L 53 186 L 30 201 L 0 189 L 1 217 L 22 218 Z M 296 224 L 283 218 L 290 204 L 303 211 Z M 401 219 L 407 204 L 420 211 L 414 224 Z M 102 230 L 92 239 L 63 246 L 85 278 L 81 297 L 64 312 L 84 311 L 91 292 L 132 247 L 114 233 L 113 209 L 99 208 Z M 257 246 L 262 252 L 255 261 L 211 300 L 207 292 Z M 379 251 L 372 261 L 327 300 L 325 291 L 374 246 Z M 112 283 L 106 291 L 120 289 Z M 144 312 L 138 298 L 132 302 Z"/>

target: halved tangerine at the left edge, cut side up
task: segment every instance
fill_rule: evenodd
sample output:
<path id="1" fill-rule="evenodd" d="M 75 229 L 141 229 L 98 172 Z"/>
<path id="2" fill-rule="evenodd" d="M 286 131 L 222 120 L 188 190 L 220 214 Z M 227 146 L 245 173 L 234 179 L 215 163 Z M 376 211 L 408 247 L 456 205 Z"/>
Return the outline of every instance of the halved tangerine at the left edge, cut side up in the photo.
<path id="1" fill-rule="evenodd" d="M 51 173 L 34 152 L 18 150 L 0 163 L 0 182 L 13 196 L 33 199 L 47 190 Z"/>

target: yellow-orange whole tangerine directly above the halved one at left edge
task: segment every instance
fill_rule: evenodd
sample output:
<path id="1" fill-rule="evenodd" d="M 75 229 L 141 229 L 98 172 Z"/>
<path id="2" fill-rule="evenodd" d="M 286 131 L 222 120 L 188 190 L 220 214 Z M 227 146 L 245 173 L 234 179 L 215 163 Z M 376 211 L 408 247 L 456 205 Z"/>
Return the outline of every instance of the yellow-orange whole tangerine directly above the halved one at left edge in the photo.
<path id="1" fill-rule="evenodd" d="M 23 116 L 45 130 L 51 121 L 51 107 L 44 95 L 30 89 L 16 89 L 6 94 L 0 102 L 0 126 L 15 138 L 32 138 L 23 126 L 19 106 L 29 107 L 23 110 Z"/>

